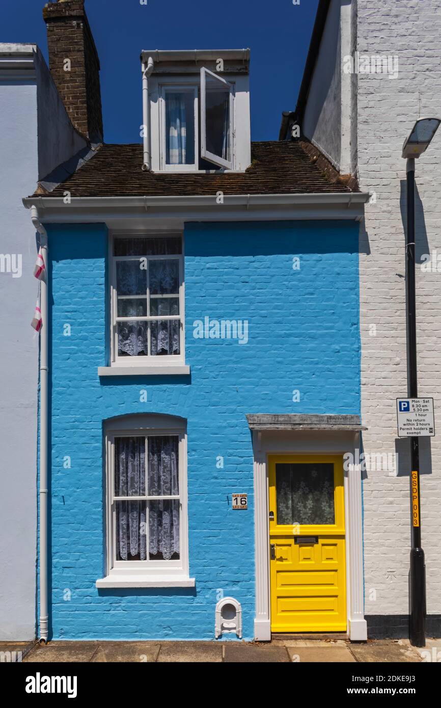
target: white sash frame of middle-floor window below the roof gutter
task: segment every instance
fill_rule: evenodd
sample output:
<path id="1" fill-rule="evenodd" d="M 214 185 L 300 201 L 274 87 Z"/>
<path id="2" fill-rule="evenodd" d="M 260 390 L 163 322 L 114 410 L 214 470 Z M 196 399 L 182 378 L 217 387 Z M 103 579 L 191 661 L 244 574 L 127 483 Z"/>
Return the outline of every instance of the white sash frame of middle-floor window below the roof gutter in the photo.
<path id="1" fill-rule="evenodd" d="M 180 238 L 181 239 L 181 254 L 176 256 L 145 256 L 147 258 L 147 267 L 149 261 L 164 261 L 177 260 L 179 263 L 179 316 L 164 315 L 164 316 L 137 316 L 137 317 L 118 317 L 118 292 L 116 287 L 116 263 L 118 261 L 137 261 L 144 256 L 114 256 L 113 246 L 115 239 L 136 239 L 136 238 Z M 110 234 L 110 367 L 170 367 L 181 366 L 185 364 L 185 292 L 184 292 L 184 238 L 182 232 L 161 232 L 143 231 L 143 232 L 112 232 Z M 147 278 L 147 285 L 149 285 Z M 150 298 L 149 288 L 147 287 L 147 312 L 149 312 Z M 169 354 L 165 356 L 119 356 L 118 355 L 118 321 L 164 321 L 176 320 L 180 321 L 180 354 Z M 150 350 L 150 328 L 148 331 L 148 346 Z"/>

